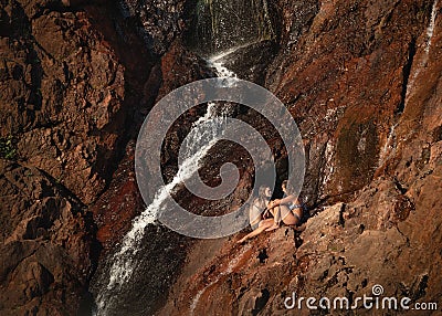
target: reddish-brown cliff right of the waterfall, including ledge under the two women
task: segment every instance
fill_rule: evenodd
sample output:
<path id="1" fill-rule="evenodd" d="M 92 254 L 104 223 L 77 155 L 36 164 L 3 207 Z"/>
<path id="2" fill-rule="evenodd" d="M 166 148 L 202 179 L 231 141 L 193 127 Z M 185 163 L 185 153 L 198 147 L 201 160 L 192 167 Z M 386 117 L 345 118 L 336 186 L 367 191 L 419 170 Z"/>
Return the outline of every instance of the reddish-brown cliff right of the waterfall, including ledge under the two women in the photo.
<path id="1" fill-rule="evenodd" d="M 314 215 L 245 246 L 200 242 L 160 314 L 285 315 L 293 293 L 352 304 L 376 284 L 440 306 L 441 3 L 280 3 L 266 86 L 299 123 Z"/>

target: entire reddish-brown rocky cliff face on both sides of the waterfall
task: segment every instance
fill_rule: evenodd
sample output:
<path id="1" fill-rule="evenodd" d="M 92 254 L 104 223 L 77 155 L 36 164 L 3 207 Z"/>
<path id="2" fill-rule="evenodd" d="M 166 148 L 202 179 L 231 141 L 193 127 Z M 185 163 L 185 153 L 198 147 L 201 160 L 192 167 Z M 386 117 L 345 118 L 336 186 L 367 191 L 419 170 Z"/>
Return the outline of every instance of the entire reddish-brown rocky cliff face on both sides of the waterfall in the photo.
<path id="1" fill-rule="evenodd" d="M 155 101 L 213 75 L 182 43 L 187 6 L 194 1 L 0 2 L 0 314 L 91 308 L 96 265 L 144 209 L 130 139 Z M 298 123 L 312 217 L 302 232 L 282 228 L 246 245 L 235 244 L 242 233 L 189 241 L 154 229 L 140 285 L 151 301 L 124 310 L 283 315 L 293 292 L 351 302 L 375 284 L 442 306 L 441 10 L 421 0 L 272 3 L 277 42 L 242 50 L 229 66 Z M 198 114 L 166 139 L 168 178 Z M 203 213 L 240 203 L 253 176 L 241 171 L 230 200 L 181 200 Z"/>

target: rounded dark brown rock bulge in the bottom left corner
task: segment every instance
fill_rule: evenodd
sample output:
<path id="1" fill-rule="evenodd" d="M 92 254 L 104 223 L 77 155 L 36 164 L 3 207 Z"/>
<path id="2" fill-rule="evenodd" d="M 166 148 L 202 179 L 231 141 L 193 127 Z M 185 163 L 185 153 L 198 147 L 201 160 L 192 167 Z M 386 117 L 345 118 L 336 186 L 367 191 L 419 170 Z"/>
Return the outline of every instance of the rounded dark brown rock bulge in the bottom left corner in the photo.
<path id="1" fill-rule="evenodd" d="M 73 314 L 96 260 L 91 217 L 48 175 L 1 161 L 1 313 Z"/>

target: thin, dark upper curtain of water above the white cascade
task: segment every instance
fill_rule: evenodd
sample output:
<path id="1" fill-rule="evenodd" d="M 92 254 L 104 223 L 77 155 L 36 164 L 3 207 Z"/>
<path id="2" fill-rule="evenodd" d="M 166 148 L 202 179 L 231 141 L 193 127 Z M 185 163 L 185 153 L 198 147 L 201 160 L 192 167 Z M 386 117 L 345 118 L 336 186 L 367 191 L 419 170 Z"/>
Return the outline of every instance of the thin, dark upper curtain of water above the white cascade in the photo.
<path id="1" fill-rule="evenodd" d="M 273 38 L 266 0 L 198 0 L 188 42 L 208 57 Z"/>

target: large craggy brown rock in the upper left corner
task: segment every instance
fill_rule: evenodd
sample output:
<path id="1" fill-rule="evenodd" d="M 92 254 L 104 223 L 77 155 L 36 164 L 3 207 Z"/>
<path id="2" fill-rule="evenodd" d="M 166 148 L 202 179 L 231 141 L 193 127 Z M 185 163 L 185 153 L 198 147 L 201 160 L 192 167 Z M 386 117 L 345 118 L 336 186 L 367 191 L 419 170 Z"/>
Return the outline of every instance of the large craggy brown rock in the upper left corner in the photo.
<path id="1" fill-rule="evenodd" d="M 39 1 L 10 6 L 9 27 L 23 25 L 2 38 L 1 134 L 18 139 L 21 160 L 90 203 L 117 154 L 124 69 L 84 12 L 38 14 L 48 6 Z"/>

